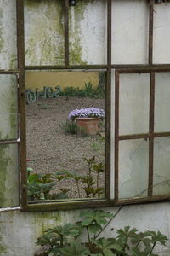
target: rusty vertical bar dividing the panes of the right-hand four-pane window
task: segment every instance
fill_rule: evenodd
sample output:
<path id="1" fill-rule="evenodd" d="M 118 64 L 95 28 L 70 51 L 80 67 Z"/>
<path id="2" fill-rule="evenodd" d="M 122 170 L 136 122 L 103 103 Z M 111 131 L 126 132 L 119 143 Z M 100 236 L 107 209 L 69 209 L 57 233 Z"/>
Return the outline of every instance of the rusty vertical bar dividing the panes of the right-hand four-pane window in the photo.
<path id="1" fill-rule="evenodd" d="M 153 195 L 153 161 L 154 161 L 154 106 L 155 106 L 155 73 L 150 72 L 150 138 L 149 138 L 149 183 L 148 195 Z"/>

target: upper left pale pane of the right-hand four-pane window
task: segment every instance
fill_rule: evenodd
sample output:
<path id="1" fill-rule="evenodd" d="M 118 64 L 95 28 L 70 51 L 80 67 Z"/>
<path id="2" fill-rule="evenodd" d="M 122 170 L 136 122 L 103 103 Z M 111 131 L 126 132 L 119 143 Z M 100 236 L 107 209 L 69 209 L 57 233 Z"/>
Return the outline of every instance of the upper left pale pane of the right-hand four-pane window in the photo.
<path id="1" fill-rule="evenodd" d="M 120 135 L 149 131 L 150 74 L 120 75 Z"/>

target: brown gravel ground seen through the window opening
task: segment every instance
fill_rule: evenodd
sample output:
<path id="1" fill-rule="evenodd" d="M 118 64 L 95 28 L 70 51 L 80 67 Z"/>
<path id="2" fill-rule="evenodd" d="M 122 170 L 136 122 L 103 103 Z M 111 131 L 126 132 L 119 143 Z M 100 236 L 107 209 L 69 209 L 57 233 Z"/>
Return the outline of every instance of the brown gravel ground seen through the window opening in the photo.
<path id="1" fill-rule="evenodd" d="M 101 134 L 88 137 L 65 135 L 62 128 L 71 110 L 88 107 L 105 109 L 105 100 L 60 96 L 26 106 L 27 159 L 31 160 L 27 166 L 33 168 L 31 173 L 54 174 L 69 170 L 84 174 L 88 164 L 83 158 L 95 155 L 96 160 L 104 161 L 105 145 L 101 143 Z M 100 177 L 100 186 L 104 186 L 104 175 Z M 62 180 L 61 187 L 69 189 L 69 197 L 78 197 L 74 180 Z M 85 197 L 83 189 L 81 197 Z"/>

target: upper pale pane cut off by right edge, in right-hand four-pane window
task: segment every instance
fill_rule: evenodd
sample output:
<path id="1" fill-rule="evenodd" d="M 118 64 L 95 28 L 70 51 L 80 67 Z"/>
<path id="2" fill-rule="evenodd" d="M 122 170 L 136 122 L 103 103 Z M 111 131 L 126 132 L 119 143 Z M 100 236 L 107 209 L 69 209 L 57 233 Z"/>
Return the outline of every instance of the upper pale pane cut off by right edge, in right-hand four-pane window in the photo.
<path id="1" fill-rule="evenodd" d="M 170 73 L 156 73 L 155 132 L 170 131 Z"/>

